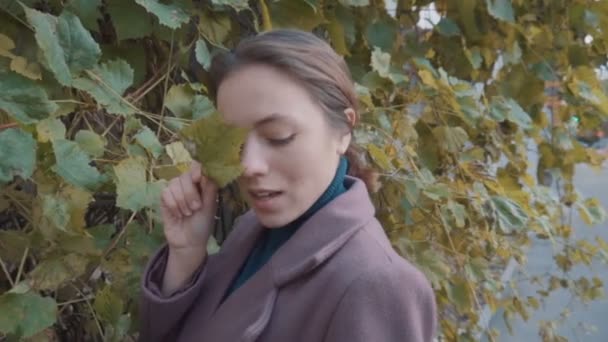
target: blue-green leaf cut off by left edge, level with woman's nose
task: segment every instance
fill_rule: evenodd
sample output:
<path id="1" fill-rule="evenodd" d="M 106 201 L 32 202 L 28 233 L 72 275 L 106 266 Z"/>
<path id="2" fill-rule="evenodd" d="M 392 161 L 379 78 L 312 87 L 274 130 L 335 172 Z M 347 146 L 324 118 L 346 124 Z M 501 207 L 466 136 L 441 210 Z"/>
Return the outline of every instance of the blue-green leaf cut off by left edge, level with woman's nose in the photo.
<path id="1" fill-rule="evenodd" d="M 0 184 L 13 177 L 27 179 L 36 166 L 36 141 L 18 128 L 0 131 Z"/>

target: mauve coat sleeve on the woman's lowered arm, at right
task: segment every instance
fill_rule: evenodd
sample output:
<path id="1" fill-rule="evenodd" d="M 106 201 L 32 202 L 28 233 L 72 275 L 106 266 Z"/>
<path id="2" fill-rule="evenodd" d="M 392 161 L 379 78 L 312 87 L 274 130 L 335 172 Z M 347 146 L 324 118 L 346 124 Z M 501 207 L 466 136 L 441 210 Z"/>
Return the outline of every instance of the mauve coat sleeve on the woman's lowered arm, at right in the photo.
<path id="1" fill-rule="evenodd" d="M 325 342 L 430 342 L 437 328 L 435 295 L 412 265 L 364 273 L 345 291 Z"/>

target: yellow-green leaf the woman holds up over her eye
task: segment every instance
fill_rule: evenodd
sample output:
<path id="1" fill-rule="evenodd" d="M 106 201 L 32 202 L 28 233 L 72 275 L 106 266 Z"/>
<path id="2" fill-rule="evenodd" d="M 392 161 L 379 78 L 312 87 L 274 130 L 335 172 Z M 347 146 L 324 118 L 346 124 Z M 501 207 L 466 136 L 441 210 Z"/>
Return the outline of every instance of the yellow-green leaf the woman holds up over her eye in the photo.
<path id="1" fill-rule="evenodd" d="M 217 111 L 181 131 L 185 146 L 205 174 L 224 187 L 243 172 L 240 151 L 247 130 L 227 124 Z"/>

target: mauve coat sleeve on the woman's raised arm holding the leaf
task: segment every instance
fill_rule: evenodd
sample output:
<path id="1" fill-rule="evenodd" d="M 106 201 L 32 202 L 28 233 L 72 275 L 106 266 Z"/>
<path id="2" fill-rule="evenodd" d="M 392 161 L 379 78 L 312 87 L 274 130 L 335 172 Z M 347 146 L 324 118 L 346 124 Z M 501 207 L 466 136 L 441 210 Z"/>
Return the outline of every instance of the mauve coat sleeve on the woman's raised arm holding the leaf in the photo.
<path id="1" fill-rule="evenodd" d="M 182 318 L 205 283 L 206 265 L 210 256 L 186 285 L 171 295 L 163 295 L 161 285 L 167 257 L 168 248 L 165 245 L 150 259 L 142 276 L 138 339 L 141 342 L 175 341 Z"/>

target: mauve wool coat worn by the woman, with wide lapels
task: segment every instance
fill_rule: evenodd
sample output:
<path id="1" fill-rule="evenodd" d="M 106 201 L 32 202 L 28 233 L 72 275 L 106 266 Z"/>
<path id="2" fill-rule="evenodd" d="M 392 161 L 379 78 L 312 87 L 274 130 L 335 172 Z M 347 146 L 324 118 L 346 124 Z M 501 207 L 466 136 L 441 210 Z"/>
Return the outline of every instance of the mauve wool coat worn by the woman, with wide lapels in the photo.
<path id="1" fill-rule="evenodd" d="M 436 304 L 424 275 L 391 247 L 365 184 L 305 222 L 270 261 L 223 303 L 262 226 L 241 216 L 220 252 L 189 284 L 163 296 L 166 246 L 142 280 L 140 341 L 427 342 Z"/>

